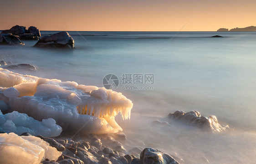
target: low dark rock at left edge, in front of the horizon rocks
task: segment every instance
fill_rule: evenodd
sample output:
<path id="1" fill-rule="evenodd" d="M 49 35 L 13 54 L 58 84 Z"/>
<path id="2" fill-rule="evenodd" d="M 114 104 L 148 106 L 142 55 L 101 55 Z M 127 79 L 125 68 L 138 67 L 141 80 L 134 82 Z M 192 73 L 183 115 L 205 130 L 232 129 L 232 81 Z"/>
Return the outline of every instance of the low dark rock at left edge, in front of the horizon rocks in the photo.
<path id="1" fill-rule="evenodd" d="M 6 44 L 6 45 L 22 45 L 25 44 L 20 41 L 20 39 L 13 34 L 0 34 L 0 44 Z"/>

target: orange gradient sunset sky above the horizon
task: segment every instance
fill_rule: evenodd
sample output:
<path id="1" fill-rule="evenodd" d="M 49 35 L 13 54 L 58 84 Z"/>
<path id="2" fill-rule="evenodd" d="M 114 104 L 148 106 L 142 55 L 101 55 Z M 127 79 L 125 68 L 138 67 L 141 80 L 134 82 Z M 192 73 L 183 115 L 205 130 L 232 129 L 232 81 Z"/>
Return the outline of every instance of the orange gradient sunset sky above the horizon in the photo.
<path id="1" fill-rule="evenodd" d="M 256 26 L 256 0 L 0 0 L 0 29 L 216 31 Z"/>

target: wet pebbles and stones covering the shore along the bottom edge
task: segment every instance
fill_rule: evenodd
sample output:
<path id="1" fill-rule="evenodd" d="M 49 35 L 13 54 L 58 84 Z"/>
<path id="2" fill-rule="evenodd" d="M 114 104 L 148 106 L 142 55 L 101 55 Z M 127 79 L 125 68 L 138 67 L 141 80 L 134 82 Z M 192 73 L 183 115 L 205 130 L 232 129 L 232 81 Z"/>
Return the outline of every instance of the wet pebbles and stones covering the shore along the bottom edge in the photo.
<path id="1" fill-rule="evenodd" d="M 30 135 L 23 133 L 21 135 Z M 125 135 L 121 140 L 125 140 Z M 56 161 L 45 159 L 42 164 L 179 164 L 172 156 L 152 148 L 125 150 L 113 135 L 87 135 L 76 140 L 68 137 L 36 137 L 48 142 L 62 155 Z M 133 153 L 134 152 L 134 153 Z M 127 154 L 128 153 L 128 154 Z M 138 154 L 140 153 L 140 154 Z"/>

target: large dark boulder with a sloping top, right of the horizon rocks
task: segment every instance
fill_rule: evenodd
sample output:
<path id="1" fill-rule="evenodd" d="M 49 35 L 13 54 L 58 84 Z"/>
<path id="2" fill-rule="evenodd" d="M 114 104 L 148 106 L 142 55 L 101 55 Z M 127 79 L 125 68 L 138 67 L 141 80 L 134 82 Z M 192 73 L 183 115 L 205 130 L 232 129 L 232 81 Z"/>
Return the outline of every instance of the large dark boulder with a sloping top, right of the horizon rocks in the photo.
<path id="1" fill-rule="evenodd" d="M 34 45 L 38 48 L 74 48 L 74 39 L 62 31 L 50 36 L 44 36 Z"/>

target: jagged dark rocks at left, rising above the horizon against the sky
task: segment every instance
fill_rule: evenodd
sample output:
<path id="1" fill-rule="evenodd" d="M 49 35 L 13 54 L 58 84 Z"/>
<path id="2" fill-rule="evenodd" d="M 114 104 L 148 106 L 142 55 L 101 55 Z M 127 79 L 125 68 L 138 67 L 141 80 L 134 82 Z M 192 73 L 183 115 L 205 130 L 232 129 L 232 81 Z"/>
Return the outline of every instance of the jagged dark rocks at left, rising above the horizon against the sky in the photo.
<path id="1" fill-rule="evenodd" d="M 15 25 L 10 29 L 3 30 L 1 34 L 17 35 L 20 39 L 38 40 L 38 37 L 41 37 L 39 29 L 34 26 L 30 26 L 28 29 L 26 29 L 25 26 Z"/>

